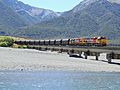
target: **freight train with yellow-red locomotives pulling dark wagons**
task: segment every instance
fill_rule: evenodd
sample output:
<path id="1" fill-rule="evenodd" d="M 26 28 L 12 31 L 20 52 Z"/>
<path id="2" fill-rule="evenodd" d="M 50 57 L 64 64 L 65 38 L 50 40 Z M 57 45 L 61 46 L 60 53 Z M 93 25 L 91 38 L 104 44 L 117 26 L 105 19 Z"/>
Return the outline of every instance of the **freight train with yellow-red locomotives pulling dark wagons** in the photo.
<path id="1" fill-rule="evenodd" d="M 57 46 L 106 46 L 106 37 L 69 38 L 55 40 L 16 40 L 19 45 L 57 45 Z"/>

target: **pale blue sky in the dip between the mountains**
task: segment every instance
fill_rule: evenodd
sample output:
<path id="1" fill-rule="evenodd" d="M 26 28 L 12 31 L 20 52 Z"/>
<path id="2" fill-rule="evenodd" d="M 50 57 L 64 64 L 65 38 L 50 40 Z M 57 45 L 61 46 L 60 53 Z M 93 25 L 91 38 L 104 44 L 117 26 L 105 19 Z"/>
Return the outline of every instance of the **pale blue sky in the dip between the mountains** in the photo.
<path id="1" fill-rule="evenodd" d="M 57 12 L 68 11 L 83 0 L 19 0 L 25 4 L 50 9 Z"/>

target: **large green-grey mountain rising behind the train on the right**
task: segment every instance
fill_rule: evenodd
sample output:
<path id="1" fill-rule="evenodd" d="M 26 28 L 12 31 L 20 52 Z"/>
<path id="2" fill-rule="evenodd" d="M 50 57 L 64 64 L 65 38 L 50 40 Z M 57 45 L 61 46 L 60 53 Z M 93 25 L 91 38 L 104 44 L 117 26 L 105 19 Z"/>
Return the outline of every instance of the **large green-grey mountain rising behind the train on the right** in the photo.
<path id="1" fill-rule="evenodd" d="M 119 0 L 84 0 L 60 17 L 20 30 L 31 38 L 106 36 L 120 39 Z M 18 34 L 18 35 L 19 35 Z M 23 35 L 23 36 L 24 36 Z"/>

